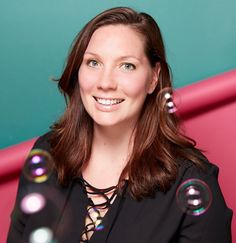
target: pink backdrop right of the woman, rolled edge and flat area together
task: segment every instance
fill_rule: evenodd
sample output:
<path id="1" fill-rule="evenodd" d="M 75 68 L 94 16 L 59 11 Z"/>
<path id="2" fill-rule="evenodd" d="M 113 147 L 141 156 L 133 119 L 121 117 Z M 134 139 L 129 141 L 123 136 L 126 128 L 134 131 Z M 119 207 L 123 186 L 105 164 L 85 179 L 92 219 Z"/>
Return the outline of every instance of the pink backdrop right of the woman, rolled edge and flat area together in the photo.
<path id="1" fill-rule="evenodd" d="M 186 134 L 220 168 L 219 183 L 234 211 L 232 242 L 236 243 L 236 70 L 181 88 L 177 94 Z"/>

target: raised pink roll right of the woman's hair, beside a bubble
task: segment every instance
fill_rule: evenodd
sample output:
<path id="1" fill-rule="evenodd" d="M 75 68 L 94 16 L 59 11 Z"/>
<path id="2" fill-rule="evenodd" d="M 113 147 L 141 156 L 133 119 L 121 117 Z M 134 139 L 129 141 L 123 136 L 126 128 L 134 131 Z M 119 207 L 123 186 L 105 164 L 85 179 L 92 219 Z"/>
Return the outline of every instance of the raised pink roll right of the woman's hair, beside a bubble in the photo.
<path id="1" fill-rule="evenodd" d="M 179 113 L 189 116 L 236 98 L 236 69 L 178 89 Z"/>

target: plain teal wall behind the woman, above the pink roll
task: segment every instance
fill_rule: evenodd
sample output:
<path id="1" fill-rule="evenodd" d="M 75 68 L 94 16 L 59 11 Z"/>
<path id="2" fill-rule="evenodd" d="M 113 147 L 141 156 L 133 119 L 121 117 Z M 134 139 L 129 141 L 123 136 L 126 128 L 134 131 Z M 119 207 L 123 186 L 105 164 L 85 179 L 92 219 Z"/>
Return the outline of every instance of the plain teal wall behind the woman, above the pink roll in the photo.
<path id="1" fill-rule="evenodd" d="M 51 77 L 60 75 L 81 27 L 115 6 L 157 20 L 175 87 L 236 67 L 235 0 L 0 0 L 0 148 L 58 119 L 64 100 Z"/>

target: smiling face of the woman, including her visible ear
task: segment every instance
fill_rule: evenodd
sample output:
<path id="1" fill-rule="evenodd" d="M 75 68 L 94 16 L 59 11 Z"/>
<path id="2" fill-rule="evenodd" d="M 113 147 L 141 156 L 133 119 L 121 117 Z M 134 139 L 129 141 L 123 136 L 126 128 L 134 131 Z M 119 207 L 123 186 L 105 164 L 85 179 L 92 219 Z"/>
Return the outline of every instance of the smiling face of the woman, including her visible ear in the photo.
<path id="1" fill-rule="evenodd" d="M 157 68 L 144 52 L 144 39 L 125 25 L 97 29 L 78 72 L 85 109 L 100 126 L 134 125 L 148 93 L 155 89 Z"/>

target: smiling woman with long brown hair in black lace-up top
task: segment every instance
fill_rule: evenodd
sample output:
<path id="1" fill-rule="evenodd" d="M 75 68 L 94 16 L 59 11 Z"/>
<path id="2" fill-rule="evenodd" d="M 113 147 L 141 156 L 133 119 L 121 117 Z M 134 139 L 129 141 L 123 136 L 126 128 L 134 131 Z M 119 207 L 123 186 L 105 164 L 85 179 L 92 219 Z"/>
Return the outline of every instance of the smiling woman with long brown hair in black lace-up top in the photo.
<path id="1" fill-rule="evenodd" d="M 54 172 L 41 184 L 22 174 L 8 242 L 26 242 L 42 226 L 57 242 L 231 241 L 218 168 L 181 134 L 167 108 L 171 77 L 151 16 L 119 7 L 92 19 L 58 86 L 66 111 L 34 145 L 53 156 Z M 178 205 L 189 179 L 209 188 L 198 216 Z M 45 195 L 46 206 L 34 214 L 18 210 L 32 191 Z"/>

